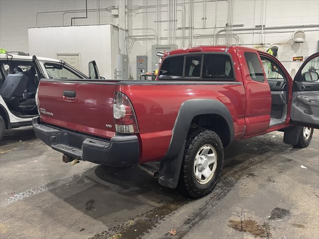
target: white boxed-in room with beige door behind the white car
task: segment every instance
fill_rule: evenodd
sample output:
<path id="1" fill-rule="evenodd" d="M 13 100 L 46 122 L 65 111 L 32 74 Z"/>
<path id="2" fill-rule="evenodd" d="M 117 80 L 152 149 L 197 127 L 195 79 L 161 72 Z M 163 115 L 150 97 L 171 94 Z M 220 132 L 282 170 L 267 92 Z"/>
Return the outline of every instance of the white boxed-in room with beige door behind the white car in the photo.
<path id="1" fill-rule="evenodd" d="M 118 55 L 118 42 L 112 42 L 118 30 L 113 25 L 29 28 L 28 32 L 32 54 L 56 58 L 56 54 L 79 53 L 79 70 L 84 74 L 88 75 L 88 63 L 95 60 L 100 75 L 113 78 L 113 62 Z"/>

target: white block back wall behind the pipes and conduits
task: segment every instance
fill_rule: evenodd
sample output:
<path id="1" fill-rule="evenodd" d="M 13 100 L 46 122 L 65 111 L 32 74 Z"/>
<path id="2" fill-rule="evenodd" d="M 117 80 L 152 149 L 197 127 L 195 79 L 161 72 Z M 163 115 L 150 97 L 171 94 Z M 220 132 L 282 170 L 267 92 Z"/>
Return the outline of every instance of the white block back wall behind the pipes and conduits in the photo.
<path id="1" fill-rule="evenodd" d="M 120 0 L 123 1 L 123 0 Z M 262 2 L 264 1 L 264 8 Z M 88 0 L 88 8 L 94 9 L 99 2 L 101 8 L 112 5 L 118 5 L 119 0 Z M 127 0 L 130 9 L 130 15 L 127 19 L 128 28 L 154 28 L 156 29 L 156 7 L 157 0 Z M 163 38 L 167 36 L 167 4 L 168 0 L 160 0 L 161 2 L 161 32 Z M 178 10 L 183 11 L 186 19 L 186 27 L 188 26 L 188 9 L 189 0 L 185 0 L 185 11 L 182 7 L 184 0 L 177 0 L 179 4 Z M 206 0 L 206 21 L 204 16 L 204 0 L 195 0 L 194 4 L 194 34 L 213 34 L 215 25 L 215 9 L 216 1 Z M 180 5 L 181 4 L 181 5 Z M 18 6 L 18 7 L 17 7 Z M 138 7 L 146 7 L 138 8 Z M 227 22 L 228 3 L 223 0 L 217 1 L 217 30 L 223 28 Z M 85 0 L 0 0 L 0 47 L 7 50 L 22 50 L 32 52 L 28 46 L 27 28 L 36 26 L 36 13 L 39 11 L 67 10 L 67 9 L 83 9 L 85 8 Z M 263 11 L 262 11 L 263 10 Z M 148 14 L 146 14 L 148 11 Z M 176 25 L 182 26 L 181 11 L 177 12 Z M 71 16 L 83 16 L 84 13 L 66 13 L 64 14 L 64 24 L 70 25 Z M 264 16 L 264 18 L 262 17 Z M 206 24 L 206 29 L 201 29 Z M 76 19 L 75 24 L 97 24 L 97 13 L 89 12 L 87 19 Z M 118 24 L 118 19 L 111 16 L 109 11 L 100 13 L 100 23 Z M 301 28 L 306 32 L 306 42 L 304 44 L 293 43 L 291 35 L 294 30 L 299 28 L 287 28 L 291 25 L 307 25 L 319 24 L 319 0 L 234 0 L 234 22 L 233 24 L 244 24 L 243 28 L 251 28 L 255 25 L 265 24 L 266 27 L 286 26 L 281 30 L 266 30 L 261 37 L 260 30 L 255 31 L 234 31 L 239 36 L 240 44 L 248 44 L 251 47 L 260 47 L 260 43 L 275 44 L 279 47 L 278 58 L 283 61 L 288 71 L 291 73 L 300 65 L 299 62 L 291 62 L 293 56 L 309 56 L 317 51 L 319 40 L 319 28 Z M 58 26 L 63 25 L 63 13 L 39 14 L 38 25 Z M 197 28 L 197 29 L 196 29 Z M 287 32 L 282 32 L 287 31 Z M 152 35 L 152 30 L 129 30 L 130 35 Z M 176 30 L 177 37 L 181 35 L 181 30 Z M 185 47 L 188 46 L 188 31 L 186 30 Z M 149 37 L 150 38 L 150 37 Z M 144 37 L 145 39 L 145 37 Z M 129 42 L 131 43 L 131 42 Z M 166 44 L 167 39 L 162 39 L 160 44 Z M 219 44 L 224 44 L 224 39 L 218 40 Z M 151 46 L 155 44 L 155 40 L 137 41 L 132 51 L 129 51 L 130 65 L 132 75 L 136 74 L 136 56 L 149 56 L 149 71 L 151 71 Z M 178 47 L 182 47 L 182 42 L 176 39 Z M 210 39 L 194 39 L 194 45 L 213 44 L 213 38 Z M 266 45 L 264 49 L 267 49 Z M 123 52 L 122 52 L 123 53 Z M 45 54 L 45 53 L 43 53 Z M 47 55 L 43 55 L 47 56 Z"/>

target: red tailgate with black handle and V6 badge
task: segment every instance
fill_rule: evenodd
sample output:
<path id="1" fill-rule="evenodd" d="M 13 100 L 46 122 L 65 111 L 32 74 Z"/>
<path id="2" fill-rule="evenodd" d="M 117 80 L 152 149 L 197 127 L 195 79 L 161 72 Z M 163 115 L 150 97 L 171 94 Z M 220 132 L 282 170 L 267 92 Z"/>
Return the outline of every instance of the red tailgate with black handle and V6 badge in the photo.
<path id="1" fill-rule="evenodd" d="M 111 138 L 115 135 L 115 83 L 43 79 L 38 95 L 40 119 L 44 123 Z"/>

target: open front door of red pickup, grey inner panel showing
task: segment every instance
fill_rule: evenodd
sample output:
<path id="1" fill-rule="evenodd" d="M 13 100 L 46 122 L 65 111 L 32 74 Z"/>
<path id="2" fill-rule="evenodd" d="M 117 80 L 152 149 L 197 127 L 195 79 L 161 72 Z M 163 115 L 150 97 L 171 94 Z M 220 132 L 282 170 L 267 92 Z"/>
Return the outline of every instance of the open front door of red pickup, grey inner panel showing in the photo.
<path id="1" fill-rule="evenodd" d="M 319 52 L 302 64 L 294 78 L 291 119 L 296 123 L 319 128 Z"/>

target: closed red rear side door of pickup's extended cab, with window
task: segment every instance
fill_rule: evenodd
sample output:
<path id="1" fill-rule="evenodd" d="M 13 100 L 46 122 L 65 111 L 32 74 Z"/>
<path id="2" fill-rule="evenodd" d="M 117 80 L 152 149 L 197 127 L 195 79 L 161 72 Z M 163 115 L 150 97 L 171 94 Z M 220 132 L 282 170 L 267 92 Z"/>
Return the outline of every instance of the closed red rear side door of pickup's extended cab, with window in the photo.
<path id="1" fill-rule="evenodd" d="M 265 132 L 269 128 L 271 91 L 257 52 L 239 49 L 237 55 L 246 90 L 245 137 Z"/>

